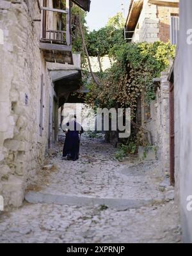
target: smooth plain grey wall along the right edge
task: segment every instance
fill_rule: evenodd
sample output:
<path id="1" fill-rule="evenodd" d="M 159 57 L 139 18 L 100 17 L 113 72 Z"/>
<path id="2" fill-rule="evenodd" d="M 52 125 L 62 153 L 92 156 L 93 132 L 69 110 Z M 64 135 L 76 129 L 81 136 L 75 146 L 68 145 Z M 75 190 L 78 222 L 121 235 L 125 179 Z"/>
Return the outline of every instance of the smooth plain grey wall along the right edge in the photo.
<path id="1" fill-rule="evenodd" d="M 175 195 L 180 206 L 183 241 L 192 243 L 192 212 L 187 198 L 192 195 L 192 1 L 180 1 L 180 33 L 174 68 L 175 93 Z M 191 33 L 190 33 L 191 35 Z"/>

